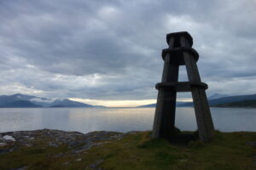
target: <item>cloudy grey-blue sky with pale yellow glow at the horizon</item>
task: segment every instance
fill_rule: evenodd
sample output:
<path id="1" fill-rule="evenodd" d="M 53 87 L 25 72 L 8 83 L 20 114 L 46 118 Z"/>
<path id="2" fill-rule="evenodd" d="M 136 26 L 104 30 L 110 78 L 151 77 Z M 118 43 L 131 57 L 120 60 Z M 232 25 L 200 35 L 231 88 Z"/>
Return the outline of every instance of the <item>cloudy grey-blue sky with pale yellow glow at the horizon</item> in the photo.
<path id="1" fill-rule="evenodd" d="M 0 95 L 154 103 L 176 31 L 194 39 L 208 96 L 256 94 L 254 0 L 2 0 L 0 23 Z"/>

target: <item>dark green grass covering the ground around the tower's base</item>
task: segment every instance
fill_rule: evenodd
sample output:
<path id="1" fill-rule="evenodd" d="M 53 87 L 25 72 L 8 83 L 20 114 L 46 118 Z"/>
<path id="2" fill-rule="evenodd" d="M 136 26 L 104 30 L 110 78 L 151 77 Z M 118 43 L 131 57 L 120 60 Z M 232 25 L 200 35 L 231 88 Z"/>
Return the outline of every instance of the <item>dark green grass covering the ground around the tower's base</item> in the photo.
<path id="1" fill-rule="evenodd" d="M 216 132 L 210 144 L 196 140 L 170 144 L 164 139 L 150 140 L 150 132 L 126 133 L 121 139 L 99 141 L 102 144 L 74 155 L 67 145 L 46 146 L 47 140 L 0 153 L 0 169 L 256 169 L 256 133 Z"/>

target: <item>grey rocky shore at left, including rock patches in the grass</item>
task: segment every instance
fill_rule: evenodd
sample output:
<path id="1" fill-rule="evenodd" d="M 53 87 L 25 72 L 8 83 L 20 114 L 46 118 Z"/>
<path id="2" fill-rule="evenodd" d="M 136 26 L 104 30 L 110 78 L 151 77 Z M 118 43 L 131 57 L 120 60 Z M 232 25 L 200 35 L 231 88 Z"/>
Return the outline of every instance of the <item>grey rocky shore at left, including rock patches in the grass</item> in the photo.
<path id="1" fill-rule="evenodd" d="M 66 132 L 53 129 L 41 129 L 34 131 L 16 131 L 0 133 L 0 156 L 8 154 L 15 150 L 38 148 L 46 149 L 50 147 L 59 148 L 63 145 L 68 148 L 68 151 L 57 152 L 54 157 L 70 156 L 76 157 L 76 161 L 82 161 L 80 155 L 86 154 L 86 150 L 94 146 L 107 144 L 112 139 L 122 139 L 124 133 L 96 131 L 91 133 Z M 102 160 L 96 160 L 90 164 L 89 169 L 97 168 Z M 69 164 L 69 161 L 63 162 Z M 15 169 L 26 169 L 19 167 Z"/>

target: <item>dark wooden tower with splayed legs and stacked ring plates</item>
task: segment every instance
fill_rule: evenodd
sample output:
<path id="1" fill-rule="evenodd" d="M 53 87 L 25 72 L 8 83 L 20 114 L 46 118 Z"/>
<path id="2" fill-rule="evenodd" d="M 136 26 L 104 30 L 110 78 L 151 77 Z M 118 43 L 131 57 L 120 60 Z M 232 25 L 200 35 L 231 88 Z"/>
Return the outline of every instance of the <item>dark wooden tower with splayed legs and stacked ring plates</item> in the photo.
<path id="1" fill-rule="evenodd" d="M 210 142 L 214 127 L 205 91 L 207 84 L 201 82 L 196 65 L 199 55 L 191 48 L 193 39 L 188 32 L 182 31 L 167 34 L 166 41 L 169 48 L 162 50 L 165 61 L 162 81 L 155 86 L 159 93 L 152 137 L 172 139 L 177 92 L 191 92 L 199 137 L 202 142 Z M 179 65 L 186 65 L 189 82 L 177 82 Z"/>

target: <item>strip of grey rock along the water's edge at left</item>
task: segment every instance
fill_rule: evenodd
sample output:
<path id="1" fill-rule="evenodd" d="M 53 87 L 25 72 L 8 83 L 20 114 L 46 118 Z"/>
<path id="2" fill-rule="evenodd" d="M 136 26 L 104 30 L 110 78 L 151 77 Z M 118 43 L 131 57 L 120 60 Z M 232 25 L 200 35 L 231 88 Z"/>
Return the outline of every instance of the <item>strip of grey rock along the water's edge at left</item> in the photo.
<path id="1" fill-rule="evenodd" d="M 33 144 L 38 144 L 45 139 L 50 140 L 49 146 L 58 147 L 61 144 L 67 144 L 73 147 L 79 144 L 83 145 L 84 149 L 90 149 L 95 144 L 100 144 L 98 141 L 108 139 L 120 139 L 124 133 L 96 131 L 91 133 L 67 132 L 55 129 L 41 129 L 34 131 L 15 131 L 0 133 L 0 147 L 11 148 L 15 145 L 30 147 Z M 2 150 L 3 152 L 3 150 Z M 0 151 L 0 154 L 2 153 Z"/>

